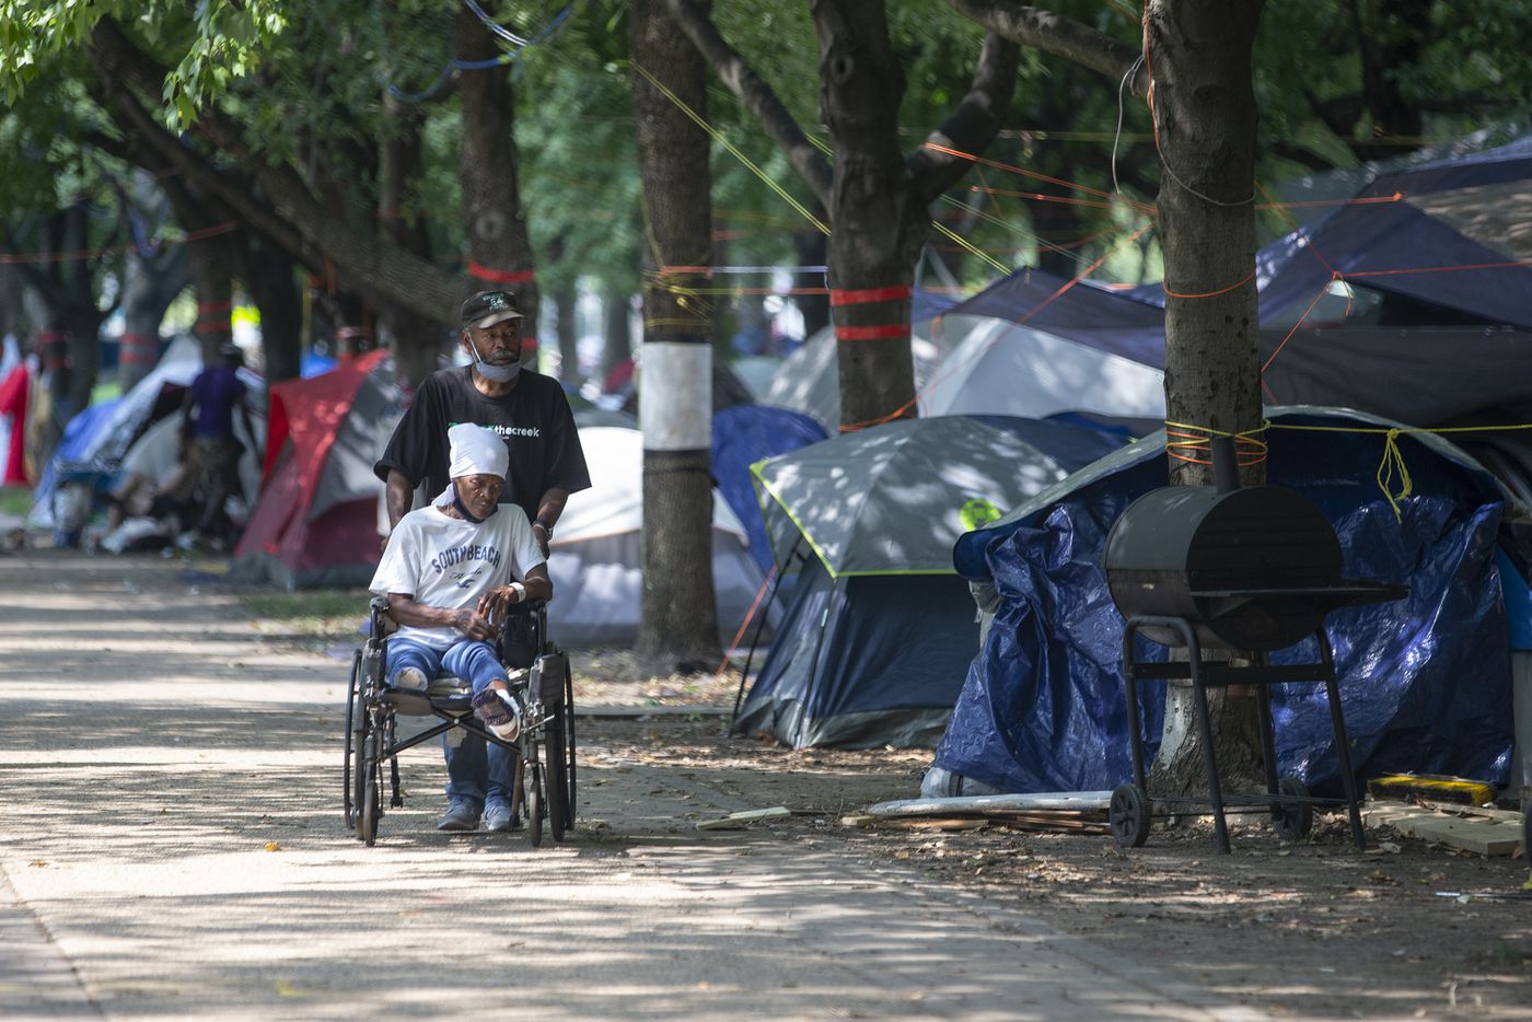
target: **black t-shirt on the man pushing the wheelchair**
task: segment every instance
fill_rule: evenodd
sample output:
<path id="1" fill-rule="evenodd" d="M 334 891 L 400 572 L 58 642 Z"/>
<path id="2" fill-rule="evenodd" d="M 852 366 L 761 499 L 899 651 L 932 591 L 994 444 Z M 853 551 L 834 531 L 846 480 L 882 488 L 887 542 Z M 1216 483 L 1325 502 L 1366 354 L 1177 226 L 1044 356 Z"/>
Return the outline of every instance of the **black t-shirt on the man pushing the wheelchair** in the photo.
<path id="1" fill-rule="evenodd" d="M 458 366 L 426 377 L 372 467 L 380 480 L 386 483 L 389 469 L 398 469 L 411 486 L 424 481 L 427 500 L 435 500 L 450 481 L 447 429 L 476 423 L 499 434 L 510 449 L 501 504 L 519 504 L 527 518 L 535 519 L 538 501 L 547 490 L 590 489 L 574 414 L 556 380 L 522 369 L 516 389 L 486 397 L 473 386 L 470 374 L 472 366 Z"/>

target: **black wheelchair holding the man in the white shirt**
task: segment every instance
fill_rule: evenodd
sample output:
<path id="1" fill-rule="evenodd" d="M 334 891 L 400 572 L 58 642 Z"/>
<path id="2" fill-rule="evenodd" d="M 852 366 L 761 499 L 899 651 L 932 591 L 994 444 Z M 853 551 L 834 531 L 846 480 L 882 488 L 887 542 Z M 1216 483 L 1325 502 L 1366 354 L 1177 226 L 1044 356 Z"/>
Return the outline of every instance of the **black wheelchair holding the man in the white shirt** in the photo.
<path id="1" fill-rule="evenodd" d="M 398 754 L 453 728 L 481 735 L 512 755 L 512 827 L 527 820 L 533 847 L 542 844 L 542 823 L 555 841 L 574 829 L 574 679 L 568 657 L 547 637 L 545 601 L 516 604 L 498 637 L 501 663 L 510 686 L 521 694 L 521 734 L 507 742 L 473 716 L 469 683 L 438 676 L 424 693 L 397 691 L 386 683 L 388 599 L 372 599 L 366 644 L 351 662 L 346 696 L 346 754 L 343 791 L 346 826 L 371 847 L 383 818 L 383 768 L 388 765 L 389 806 L 404 797 L 398 783 Z M 435 717 L 438 723 L 398 737 L 398 717 Z"/>

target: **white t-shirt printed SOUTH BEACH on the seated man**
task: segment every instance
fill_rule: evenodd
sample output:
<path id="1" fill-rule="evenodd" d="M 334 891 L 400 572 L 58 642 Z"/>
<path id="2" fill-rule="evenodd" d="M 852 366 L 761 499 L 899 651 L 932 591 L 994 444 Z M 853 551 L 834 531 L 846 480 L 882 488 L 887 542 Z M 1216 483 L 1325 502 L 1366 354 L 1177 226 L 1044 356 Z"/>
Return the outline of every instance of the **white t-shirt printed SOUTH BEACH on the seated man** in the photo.
<path id="1" fill-rule="evenodd" d="M 472 610 L 484 593 L 524 579 L 542 562 L 527 513 L 516 504 L 501 504 L 476 526 L 430 506 L 398 519 L 368 588 L 378 596 L 404 593 L 427 607 Z M 400 625 L 394 634 L 435 650 L 464 637 L 452 627 Z"/>

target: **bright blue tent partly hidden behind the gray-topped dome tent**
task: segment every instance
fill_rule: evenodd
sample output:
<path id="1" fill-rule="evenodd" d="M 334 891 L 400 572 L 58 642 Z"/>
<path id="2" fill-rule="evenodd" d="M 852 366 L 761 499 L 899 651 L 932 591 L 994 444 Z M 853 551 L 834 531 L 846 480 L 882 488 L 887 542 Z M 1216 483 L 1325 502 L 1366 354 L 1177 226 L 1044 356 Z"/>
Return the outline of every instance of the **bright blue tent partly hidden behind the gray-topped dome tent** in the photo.
<path id="1" fill-rule="evenodd" d="M 824 429 L 817 421 L 784 408 L 735 405 L 712 417 L 712 480 L 745 524 L 751 556 L 763 572 L 771 570 L 771 541 L 751 481 L 751 466 L 821 440 Z"/>

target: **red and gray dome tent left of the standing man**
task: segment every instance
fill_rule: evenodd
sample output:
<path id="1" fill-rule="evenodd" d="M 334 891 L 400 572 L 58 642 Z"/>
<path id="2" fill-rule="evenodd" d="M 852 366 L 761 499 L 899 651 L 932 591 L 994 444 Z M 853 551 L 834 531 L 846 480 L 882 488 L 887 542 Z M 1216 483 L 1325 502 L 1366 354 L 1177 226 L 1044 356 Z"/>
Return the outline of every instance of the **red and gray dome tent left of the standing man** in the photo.
<path id="1" fill-rule="evenodd" d="M 372 464 L 401 414 L 386 351 L 274 385 L 260 498 L 234 549 L 234 578 L 290 590 L 366 585 L 381 550 Z"/>

